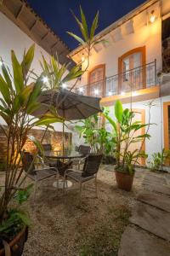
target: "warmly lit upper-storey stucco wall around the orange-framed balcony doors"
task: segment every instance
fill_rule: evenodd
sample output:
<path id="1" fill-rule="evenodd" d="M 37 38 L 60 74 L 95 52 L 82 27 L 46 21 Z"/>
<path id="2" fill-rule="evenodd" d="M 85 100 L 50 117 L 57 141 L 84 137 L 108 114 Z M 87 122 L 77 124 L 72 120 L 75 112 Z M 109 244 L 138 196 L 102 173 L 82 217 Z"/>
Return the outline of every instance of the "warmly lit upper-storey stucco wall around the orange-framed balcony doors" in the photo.
<path id="1" fill-rule="evenodd" d="M 123 36 L 117 42 L 113 42 L 111 37 L 107 37 L 107 41 L 111 43 L 108 47 L 93 54 L 89 58 L 90 71 L 93 67 L 99 64 L 105 64 L 105 76 L 110 77 L 118 73 L 118 58 L 127 51 L 145 45 L 146 48 L 146 63 L 157 62 L 157 71 L 161 70 L 161 19 L 157 19 L 153 24 L 142 26 L 135 30 L 135 32 Z M 84 67 L 87 65 L 84 61 Z M 84 68 L 83 67 L 83 68 Z M 88 84 L 88 72 L 82 76 L 82 81 L 79 85 Z"/>

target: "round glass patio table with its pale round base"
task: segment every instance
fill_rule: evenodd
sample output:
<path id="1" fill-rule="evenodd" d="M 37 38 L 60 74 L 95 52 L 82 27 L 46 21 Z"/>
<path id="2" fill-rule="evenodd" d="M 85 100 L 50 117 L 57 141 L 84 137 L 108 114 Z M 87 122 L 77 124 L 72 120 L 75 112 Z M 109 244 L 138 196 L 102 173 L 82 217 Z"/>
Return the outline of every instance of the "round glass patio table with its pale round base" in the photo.
<path id="1" fill-rule="evenodd" d="M 80 154 L 77 151 L 65 151 L 64 154 L 61 151 L 45 151 L 44 157 L 49 159 L 56 159 L 56 160 L 71 160 L 74 158 L 81 158 L 82 154 Z M 63 189 L 64 188 L 64 181 L 62 179 L 59 179 L 58 181 L 55 181 L 53 183 L 54 188 Z M 72 183 L 70 180 L 66 181 L 65 188 L 71 188 Z"/>

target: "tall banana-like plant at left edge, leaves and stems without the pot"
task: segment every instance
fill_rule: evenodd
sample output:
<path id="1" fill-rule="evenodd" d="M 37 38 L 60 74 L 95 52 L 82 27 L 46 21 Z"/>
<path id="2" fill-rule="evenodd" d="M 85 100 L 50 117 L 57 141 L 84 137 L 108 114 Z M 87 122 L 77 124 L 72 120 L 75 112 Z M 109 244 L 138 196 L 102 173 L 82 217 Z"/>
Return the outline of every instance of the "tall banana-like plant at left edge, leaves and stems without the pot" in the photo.
<path id="1" fill-rule="evenodd" d="M 3 63 L 0 73 L 0 116 L 3 131 L 7 141 L 7 159 L 5 167 L 5 182 L 0 197 L 0 223 L 8 212 L 8 204 L 14 198 L 15 193 L 21 188 L 24 181 L 24 170 L 20 168 L 21 155 L 29 131 L 35 126 L 50 125 L 55 122 L 63 122 L 57 113 L 47 113 L 37 119 L 31 114 L 38 108 L 38 96 L 44 90 L 42 73 L 31 82 L 31 63 L 34 58 L 35 46 L 24 52 L 22 61 L 19 61 L 11 51 L 12 73 Z M 41 143 L 34 137 L 30 137 L 37 147 L 42 149 Z"/>

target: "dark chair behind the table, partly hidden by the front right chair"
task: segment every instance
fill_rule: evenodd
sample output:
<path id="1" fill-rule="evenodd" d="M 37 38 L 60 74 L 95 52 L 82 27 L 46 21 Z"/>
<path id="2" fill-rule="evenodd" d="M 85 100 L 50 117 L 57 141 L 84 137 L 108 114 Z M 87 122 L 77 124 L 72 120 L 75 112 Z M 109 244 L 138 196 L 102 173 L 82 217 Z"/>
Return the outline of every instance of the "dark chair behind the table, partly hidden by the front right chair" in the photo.
<path id="1" fill-rule="evenodd" d="M 91 148 L 89 146 L 85 146 L 85 145 L 80 145 L 77 148 L 77 151 L 82 154 L 81 158 L 77 158 L 72 160 L 72 165 L 76 167 L 76 170 L 80 170 L 80 166 L 82 164 L 84 164 L 85 158 L 88 156 L 88 154 L 90 153 Z"/>

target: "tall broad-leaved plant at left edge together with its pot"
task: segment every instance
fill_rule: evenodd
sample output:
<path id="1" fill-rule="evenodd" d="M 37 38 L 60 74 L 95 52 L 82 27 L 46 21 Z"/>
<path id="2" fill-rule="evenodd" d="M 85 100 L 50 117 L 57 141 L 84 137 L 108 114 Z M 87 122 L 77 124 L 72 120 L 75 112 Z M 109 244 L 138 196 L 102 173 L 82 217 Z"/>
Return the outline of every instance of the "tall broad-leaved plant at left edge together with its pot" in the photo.
<path id="1" fill-rule="evenodd" d="M 34 45 L 18 61 L 14 51 L 11 51 L 12 72 L 3 63 L 0 73 L 0 116 L 3 123 L 0 129 L 6 137 L 7 155 L 5 160 L 5 178 L 0 184 L 0 255 L 11 251 L 12 255 L 21 255 L 28 224 L 26 212 L 20 205 L 27 200 L 31 185 L 23 187 L 26 174 L 21 163 L 23 150 L 29 131 L 34 126 L 50 125 L 62 121 L 57 113 L 47 113 L 37 119 L 31 116 L 40 108 L 37 99 L 43 90 L 42 75 L 30 82 L 31 62 L 34 57 Z M 36 138 L 29 137 L 42 150 L 41 143 Z M 35 156 L 36 158 L 36 156 Z M 15 202 L 14 202 L 15 201 Z M 16 201 L 18 204 L 16 204 Z"/>

